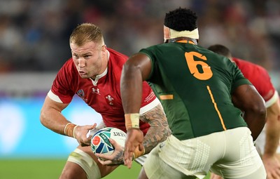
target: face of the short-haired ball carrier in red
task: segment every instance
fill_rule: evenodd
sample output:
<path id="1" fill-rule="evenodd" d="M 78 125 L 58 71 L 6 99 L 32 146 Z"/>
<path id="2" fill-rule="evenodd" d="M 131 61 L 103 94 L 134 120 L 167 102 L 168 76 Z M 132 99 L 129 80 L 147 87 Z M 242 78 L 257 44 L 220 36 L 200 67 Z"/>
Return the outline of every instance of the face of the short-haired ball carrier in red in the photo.
<path id="1" fill-rule="evenodd" d="M 82 78 L 92 78 L 102 74 L 107 67 L 106 46 L 93 41 L 83 46 L 71 43 L 73 62 Z"/>

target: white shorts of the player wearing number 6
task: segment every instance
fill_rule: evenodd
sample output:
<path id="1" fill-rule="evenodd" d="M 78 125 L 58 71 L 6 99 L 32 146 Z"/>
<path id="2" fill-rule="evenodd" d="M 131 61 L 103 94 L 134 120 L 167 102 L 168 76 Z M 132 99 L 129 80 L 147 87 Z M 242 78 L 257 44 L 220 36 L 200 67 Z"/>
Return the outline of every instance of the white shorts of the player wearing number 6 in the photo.
<path id="1" fill-rule="evenodd" d="M 144 169 L 150 179 L 204 178 L 209 171 L 224 178 L 266 178 L 246 127 L 182 141 L 171 135 L 150 152 Z"/>

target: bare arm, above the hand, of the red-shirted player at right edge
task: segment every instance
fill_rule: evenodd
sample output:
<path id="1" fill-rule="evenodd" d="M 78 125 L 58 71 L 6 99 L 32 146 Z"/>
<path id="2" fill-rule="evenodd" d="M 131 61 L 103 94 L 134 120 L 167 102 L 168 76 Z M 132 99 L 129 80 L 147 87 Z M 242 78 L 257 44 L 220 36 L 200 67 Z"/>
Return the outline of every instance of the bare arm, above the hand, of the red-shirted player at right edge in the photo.
<path id="1" fill-rule="evenodd" d="M 279 145 L 280 137 L 280 105 L 277 100 L 272 106 L 267 107 L 267 123 L 265 138 L 265 154 L 273 155 Z"/>

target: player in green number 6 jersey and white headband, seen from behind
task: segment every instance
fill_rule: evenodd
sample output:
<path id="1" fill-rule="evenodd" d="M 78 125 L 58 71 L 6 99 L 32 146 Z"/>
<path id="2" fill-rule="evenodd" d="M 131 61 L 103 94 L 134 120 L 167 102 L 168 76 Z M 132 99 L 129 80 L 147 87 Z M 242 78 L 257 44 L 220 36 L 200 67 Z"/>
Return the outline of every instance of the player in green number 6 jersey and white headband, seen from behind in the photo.
<path id="1" fill-rule="evenodd" d="M 143 150 L 139 108 L 146 80 L 162 102 L 172 135 L 151 151 L 139 178 L 204 178 L 212 171 L 224 178 L 265 179 L 253 145 L 265 125 L 260 94 L 228 58 L 197 45 L 193 11 L 167 13 L 164 35 L 164 44 L 141 49 L 123 67 L 125 165 L 132 166 L 135 149 Z"/>

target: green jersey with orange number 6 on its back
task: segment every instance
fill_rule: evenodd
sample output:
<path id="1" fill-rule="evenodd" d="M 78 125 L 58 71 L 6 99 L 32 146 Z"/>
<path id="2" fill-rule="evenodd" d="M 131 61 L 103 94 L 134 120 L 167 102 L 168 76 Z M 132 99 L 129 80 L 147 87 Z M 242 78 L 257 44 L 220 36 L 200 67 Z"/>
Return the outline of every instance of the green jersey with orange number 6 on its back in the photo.
<path id="1" fill-rule="evenodd" d="M 141 49 L 151 58 L 147 81 L 162 102 L 179 140 L 247 126 L 231 93 L 251 84 L 228 58 L 193 44 L 167 43 Z"/>

